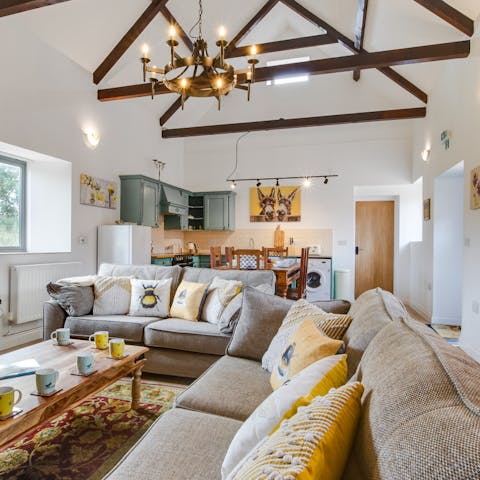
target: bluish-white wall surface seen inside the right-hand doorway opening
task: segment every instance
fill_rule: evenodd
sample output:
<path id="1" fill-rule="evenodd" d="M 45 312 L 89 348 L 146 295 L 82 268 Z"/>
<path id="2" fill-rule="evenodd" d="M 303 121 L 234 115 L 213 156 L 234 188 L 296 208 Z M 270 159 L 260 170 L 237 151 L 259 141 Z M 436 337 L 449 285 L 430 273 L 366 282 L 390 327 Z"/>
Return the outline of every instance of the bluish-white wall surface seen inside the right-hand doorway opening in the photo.
<path id="1" fill-rule="evenodd" d="M 432 323 L 462 324 L 463 176 L 435 179 Z"/>

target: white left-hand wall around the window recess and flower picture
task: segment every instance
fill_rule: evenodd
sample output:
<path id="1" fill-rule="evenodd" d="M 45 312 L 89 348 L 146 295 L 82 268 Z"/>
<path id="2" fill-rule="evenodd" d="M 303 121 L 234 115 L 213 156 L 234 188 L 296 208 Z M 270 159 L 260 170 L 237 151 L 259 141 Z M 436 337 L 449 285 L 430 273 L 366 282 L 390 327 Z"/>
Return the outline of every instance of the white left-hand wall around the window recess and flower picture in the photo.
<path id="1" fill-rule="evenodd" d="M 162 178 L 181 184 L 183 142 L 161 139 L 161 112 L 148 99 L 98 102 L 91 73 L 19 30 L 14 17 L 0 21 L 0 142 L 66 160 L 73 167 L 72 251 L 0 255 L 0 298 L 6 306 L 9 265 L 78 260 L 82 272 L 96 270 L 97 225 L 112 223 L 120 210 L 80 205 L 80 173 L 119 183 L 119 174 L 155 176 L 152 159 L 158 158 L 167 162 Z M 88 126 L 101 135 L 96 150 L 84 143 L 82 128 Z M 55 202 L 49 203 L 53 214 Z M 87 244 L 79 243 L 80 236 L 87 237 Z"/>

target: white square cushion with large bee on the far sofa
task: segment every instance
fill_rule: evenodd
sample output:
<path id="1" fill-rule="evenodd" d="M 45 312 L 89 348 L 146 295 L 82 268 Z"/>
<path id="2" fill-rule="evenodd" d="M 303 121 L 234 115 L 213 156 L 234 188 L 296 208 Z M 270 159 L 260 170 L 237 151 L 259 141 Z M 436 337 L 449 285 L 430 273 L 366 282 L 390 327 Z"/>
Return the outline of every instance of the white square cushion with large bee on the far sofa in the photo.
<path id="1" fill-rule="evenodd" d="M 172 279 L 131 279 L 132 296 L 129 315 L 136 317 L 168 317 Z"/>

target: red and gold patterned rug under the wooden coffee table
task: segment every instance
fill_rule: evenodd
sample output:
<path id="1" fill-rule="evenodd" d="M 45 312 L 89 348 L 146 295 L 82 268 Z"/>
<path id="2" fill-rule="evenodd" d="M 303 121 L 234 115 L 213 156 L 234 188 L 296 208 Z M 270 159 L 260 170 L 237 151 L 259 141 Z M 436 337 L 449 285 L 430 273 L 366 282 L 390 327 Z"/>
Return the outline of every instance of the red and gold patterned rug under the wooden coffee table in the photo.
<path id="1" fill-rule="evenodd" d="M 130 409 L 120 380 L 0 451 L 1 480 L 99 480 L 184 389 L 142 382 L 141 409 Z"/>

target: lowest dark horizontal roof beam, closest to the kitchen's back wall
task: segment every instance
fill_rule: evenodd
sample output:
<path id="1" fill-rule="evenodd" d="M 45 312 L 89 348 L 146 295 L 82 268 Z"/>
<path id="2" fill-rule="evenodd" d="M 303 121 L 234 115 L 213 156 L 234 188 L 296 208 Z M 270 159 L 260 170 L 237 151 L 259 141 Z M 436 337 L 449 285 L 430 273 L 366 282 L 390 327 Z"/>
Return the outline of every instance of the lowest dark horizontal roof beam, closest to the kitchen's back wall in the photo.
<path id="1" fill-rule="evenodd" d="M 324 115 L 320 117 L 290 119 L 280 118 L 279 120 L 267 120 L 260 122 L 229 123 L 224 125 L 205 125 L 201 127 L 163 129 L 162 138 L 198 137 L 227 133 L 282 130 L 287 128 L 321 127 L 325 125 L 342 125 L 348 123 L 408 120 L 412 118 L 424 118 L 426 114 L 427 109 L 425 107 L 421 107 L 380 110 L 375 112 L 345 113 L 340 115 Z"/>

